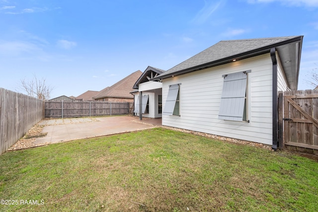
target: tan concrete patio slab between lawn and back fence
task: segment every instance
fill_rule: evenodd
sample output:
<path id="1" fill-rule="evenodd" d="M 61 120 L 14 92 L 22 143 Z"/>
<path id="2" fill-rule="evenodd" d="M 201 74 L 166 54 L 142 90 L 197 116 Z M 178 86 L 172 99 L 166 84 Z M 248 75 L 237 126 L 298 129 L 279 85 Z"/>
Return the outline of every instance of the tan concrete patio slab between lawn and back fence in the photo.
<path id="1" fill-rule="evenodd" d="M 72 123 L 72 120 L 68 120 L 67 122 L 64 122 L 64 124 L 61 124 L 61 119 L 60 121 L 57 121 L 60 122 L 59 124 L 51 120 L 50 124 L 54 125 L 45 126 L 42 131 L 42 133 L 47 133 L 47 136 L 37 138 L 34 143 L 72 141 L 151 129 L 161 125 L 161 119 L 145 119 L 140 121 L 138 117 L 130 116 L 102 117 L 94 119 L 97 121 L 89 122 L 89 120 L 84 120 L 84 123 Z M 49 123 L 46 123 L 45 125 L 48 124 Z"/>

